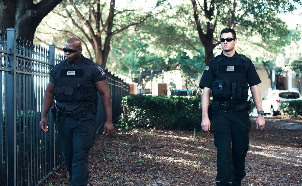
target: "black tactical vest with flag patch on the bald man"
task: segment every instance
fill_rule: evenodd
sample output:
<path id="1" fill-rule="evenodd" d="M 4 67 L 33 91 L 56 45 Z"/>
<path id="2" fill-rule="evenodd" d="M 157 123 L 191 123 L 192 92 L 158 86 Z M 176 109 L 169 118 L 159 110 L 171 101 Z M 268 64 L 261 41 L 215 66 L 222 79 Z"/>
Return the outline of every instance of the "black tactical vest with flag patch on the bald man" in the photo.
<path id="1" fill-rule="evenodd" d="M 56 87 L 53 90 L 58 102 L 81 102 L 98 99 L 97 90 L 91 78 L 92 61 L 81 60 L 75 68 L 67 68 L 67 61 L 62 61 L 57 70 Z M 57 76 L 56 75 L 56 76 Z"/>

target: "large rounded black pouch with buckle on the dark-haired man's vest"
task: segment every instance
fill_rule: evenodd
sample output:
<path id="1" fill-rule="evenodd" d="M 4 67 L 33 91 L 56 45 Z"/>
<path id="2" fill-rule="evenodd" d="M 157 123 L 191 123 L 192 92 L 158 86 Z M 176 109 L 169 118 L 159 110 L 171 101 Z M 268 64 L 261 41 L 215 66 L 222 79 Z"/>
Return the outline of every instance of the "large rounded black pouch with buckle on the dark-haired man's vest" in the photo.
<path id="1" fill-rule="evenodd" d="M 228 79 L 216 79 L 212 84 L 213 96 L 215 98 L 227 99 L 230 97 L 230 88 L 230 81 Z"/>

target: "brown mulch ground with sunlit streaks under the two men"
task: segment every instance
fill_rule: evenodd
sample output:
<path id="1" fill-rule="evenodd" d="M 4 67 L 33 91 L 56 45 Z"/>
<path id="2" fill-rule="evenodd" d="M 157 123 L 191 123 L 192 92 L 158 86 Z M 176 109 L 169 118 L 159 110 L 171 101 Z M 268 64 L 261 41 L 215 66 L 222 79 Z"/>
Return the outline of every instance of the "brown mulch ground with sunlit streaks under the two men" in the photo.
<path id="1" fill-rule="evenodd" d="M 242 185 L 302 186 L 302 118 L 265 117 L 263 131 L 256 130 L 255 119 Z M 214 186 L 213 136 L 144 129 L 97 135 L 89 155 L 88 185 Z M 66 166 L 44 183 L 49 185 L 69 186 Z"/>

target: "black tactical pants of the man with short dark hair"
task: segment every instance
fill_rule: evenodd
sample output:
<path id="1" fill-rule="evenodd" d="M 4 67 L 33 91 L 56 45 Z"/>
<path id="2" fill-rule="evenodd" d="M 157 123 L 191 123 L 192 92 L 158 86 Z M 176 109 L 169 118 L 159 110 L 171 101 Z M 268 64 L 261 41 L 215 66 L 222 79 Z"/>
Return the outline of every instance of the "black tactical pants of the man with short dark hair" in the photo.
<path id="1" fill-rule="evenodd" d="M 213 108 L 214 144 L 217 148 L 217 186 L 232 185 L 245 175 L 244 163 L 249 148 L 251 121 L 248 111 Z"/>

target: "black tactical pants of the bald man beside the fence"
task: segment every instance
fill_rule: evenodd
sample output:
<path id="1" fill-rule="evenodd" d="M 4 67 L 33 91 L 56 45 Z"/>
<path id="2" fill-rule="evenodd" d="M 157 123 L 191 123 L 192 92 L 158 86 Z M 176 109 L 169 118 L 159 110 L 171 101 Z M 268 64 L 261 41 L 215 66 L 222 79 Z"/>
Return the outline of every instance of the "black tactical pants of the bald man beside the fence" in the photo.
<path id="1" fill-rule="evenodd" d="M 78 120 L 60 118 L 57 139 L 69 172 L 70 186 L 87 186 L 88 153 L 95 140 L 95 118 L 91 111 Z"/>

